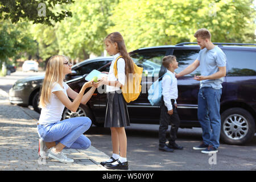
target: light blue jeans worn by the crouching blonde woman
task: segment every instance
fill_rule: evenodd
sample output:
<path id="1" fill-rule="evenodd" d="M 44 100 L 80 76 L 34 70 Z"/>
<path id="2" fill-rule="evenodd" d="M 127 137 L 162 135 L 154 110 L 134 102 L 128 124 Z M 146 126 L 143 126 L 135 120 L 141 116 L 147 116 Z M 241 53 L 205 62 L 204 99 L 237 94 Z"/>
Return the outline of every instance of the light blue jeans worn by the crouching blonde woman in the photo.
<path id="1" fill-rule="evenodd" d="M 57 123 L 38 125 L 38 135 L 45 142 L 60 142 L 66 149 L 86 149 L 91 143 L 83 133 L 91 124 L 92 121 L 88 117 L 64 119 Z"/>

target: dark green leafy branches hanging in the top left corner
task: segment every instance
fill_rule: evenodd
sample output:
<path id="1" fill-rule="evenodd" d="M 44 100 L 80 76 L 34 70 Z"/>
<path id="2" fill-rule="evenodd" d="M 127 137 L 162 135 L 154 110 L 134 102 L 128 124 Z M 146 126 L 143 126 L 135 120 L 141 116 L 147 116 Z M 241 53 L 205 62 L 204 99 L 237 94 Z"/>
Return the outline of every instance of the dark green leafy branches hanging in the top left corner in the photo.
<path id="1" fill-rule="evenodd" d="M 67 10 L 55 11 L 55 6 L 72 2 L 73 0 L 0 0 L 0 19 L 10 19 L 12 23 L 29 20 L 52 25 L 52 22 L 72 16 Z"/>

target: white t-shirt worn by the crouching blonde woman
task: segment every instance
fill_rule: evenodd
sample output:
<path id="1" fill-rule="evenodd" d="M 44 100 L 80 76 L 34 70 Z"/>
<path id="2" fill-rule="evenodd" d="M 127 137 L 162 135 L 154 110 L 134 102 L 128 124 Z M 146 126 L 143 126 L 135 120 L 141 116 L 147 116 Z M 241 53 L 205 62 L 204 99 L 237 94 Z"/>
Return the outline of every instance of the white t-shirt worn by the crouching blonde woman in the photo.
<path id="1" fill-rule="evenodd" d="M 52 92 L 55 91 L 63 91 L 67 96 L 67 89 L 68 84 L 63 82 L 63 87 L 60 86 L 57 82 L 55 82 L 55 86 L 53 86 Z M 62 102 L 55 96 L 55 94 L 51 93 L 51 98 L 49 103 L 46 105 L 46 107 L 42 108 L 40 118 L 39 118 L 39 124 L 45 125 L 48 123 L 56 123 L 59 122 L 63 113 L 65 106 L 62 104 Z"/>

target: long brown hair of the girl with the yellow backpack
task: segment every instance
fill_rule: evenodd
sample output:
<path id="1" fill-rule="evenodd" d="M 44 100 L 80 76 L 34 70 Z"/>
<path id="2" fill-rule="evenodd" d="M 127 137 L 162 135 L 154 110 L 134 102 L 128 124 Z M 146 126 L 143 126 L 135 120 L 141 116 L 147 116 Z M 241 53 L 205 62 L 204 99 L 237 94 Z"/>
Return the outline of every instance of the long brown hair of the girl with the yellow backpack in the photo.
<path id="1" fill-rule="evenodd" d="M 134 73 L 133 60 L 131 59 L 126 50 L 125 40 L 123 40 L 123 36 L 119 32 L 113 32 L 106 36 L 104 41 L 117 43 L 117 51 L 120 53 L 121 56 L 123 56 L 123 59 L 125 60 L 125 75 L 128 75 L 129 73 Z"/>

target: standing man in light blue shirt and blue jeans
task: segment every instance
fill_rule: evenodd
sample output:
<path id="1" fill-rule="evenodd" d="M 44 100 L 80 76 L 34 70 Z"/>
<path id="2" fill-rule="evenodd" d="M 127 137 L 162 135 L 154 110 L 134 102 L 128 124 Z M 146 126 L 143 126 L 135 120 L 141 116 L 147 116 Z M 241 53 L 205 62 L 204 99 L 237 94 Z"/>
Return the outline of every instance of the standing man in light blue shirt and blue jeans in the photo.
<path id="1" fill-rule="evenodd" d="M 193 149 L 212 154 L 218 152 L 220 146 L 220 98 L 221 84 L 226 76 L 226 56 L 211 42 L 210 32 L 206 28 L 197 30 L 194 36 L 201 48 L 199 56 L 176 77 L 187 75 L 200 65 L 201 76 L 195 76 L 194 79 L 200 81 L 197 117 L 203 130 L 203 142 Z"/>

